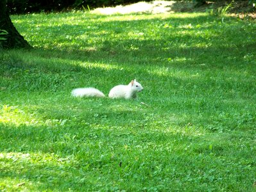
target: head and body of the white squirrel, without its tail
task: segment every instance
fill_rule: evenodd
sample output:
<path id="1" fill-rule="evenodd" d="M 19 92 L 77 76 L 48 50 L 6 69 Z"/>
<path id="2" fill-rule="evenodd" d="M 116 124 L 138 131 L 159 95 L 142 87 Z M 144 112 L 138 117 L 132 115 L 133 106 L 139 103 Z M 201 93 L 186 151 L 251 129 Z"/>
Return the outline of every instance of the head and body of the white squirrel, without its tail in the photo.
<path id="1" fill-rule="evenodd" d="M 134 99 L 137 97 L 137 92 L 141 92 L 143 87 L 140 83 L 134 79 L 128 85 L 117 85 L 112 88 L 108 94 L 111 99 L 124 98 L 124 99 Z"/>

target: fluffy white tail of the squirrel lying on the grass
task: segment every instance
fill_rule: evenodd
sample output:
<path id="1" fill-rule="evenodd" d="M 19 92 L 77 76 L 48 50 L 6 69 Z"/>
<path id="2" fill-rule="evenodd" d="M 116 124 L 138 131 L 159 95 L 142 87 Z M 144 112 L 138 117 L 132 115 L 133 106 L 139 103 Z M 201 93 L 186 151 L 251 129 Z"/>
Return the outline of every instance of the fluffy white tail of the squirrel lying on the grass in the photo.
<path id="1" fill-rule="evenodd" d="M 71 94 L 74 97 L 105 97 L 105 95 L 96 88 L 76 88 Z"/>

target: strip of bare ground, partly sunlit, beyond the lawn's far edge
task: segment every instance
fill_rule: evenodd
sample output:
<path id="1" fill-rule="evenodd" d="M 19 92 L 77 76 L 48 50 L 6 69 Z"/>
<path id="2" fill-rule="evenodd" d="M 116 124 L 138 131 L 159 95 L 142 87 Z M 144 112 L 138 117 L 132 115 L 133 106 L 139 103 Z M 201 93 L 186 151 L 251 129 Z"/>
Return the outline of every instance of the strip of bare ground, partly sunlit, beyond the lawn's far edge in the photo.
<path id="1" fill-rule="evenodd" d="M 200 7 L 194 7 L 192 1 L 151 1 L 139 3 L 119 5 L 115 7 L 96 8 L 92 12 L 102 14 L 129 14 L 129 13 L 174 13 L 174 12 L 221 12 L 226 6 L 230 4 L 225 1 L 210 2 L 203 4 Z M 248 1 L 232 2 L 230 8 L 226 11 L 231 15 L 256 18 L 255 4 L 248 4 Z"/>

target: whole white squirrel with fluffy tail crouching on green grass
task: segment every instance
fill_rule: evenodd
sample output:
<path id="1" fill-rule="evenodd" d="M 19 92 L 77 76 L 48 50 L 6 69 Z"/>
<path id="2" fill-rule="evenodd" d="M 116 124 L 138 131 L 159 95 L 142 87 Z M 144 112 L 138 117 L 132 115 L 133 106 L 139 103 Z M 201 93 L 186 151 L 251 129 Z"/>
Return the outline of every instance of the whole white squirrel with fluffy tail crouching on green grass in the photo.
<path id="1" fill-rule="evenodd" d="M 136 79 L 132 80 L 128 85 L 119 84 L 114 86 L 108 94 L 111 99 L 135 99 L 137 92 L 141 92 L 143 87 Z M 104 93 L 96 88 L 76 88 L 71 92 L 74 97 L 105 97 Z"/>

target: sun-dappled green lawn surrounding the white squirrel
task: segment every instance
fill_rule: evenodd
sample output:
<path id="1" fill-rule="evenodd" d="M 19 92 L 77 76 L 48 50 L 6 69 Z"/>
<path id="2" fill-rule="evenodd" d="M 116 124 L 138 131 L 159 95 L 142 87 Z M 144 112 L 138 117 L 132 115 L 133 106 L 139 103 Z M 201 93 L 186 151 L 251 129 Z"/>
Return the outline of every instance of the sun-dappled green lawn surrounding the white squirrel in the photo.
<path id="1" fill-rule="evenodd" d="M 0 54 L 0 191 L 255 191 L 255 21 L 12 20 L 34 49 Z M 137 100 L 71 97 L 133 78 Z"/>

